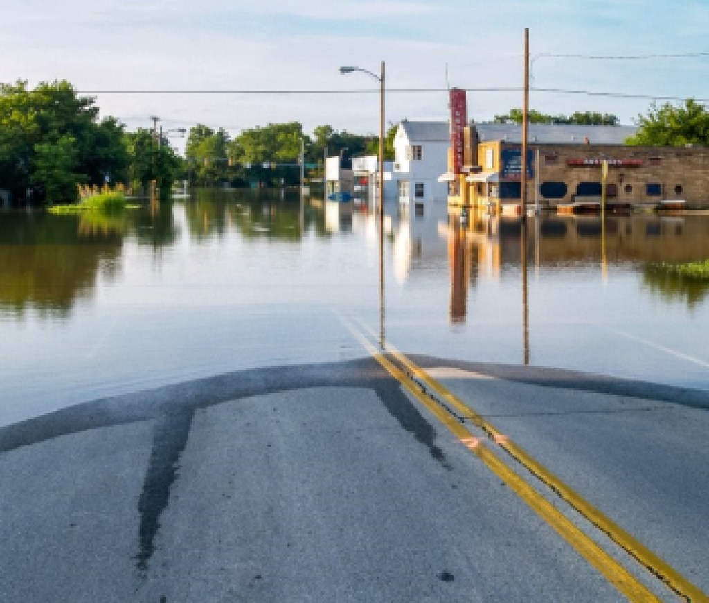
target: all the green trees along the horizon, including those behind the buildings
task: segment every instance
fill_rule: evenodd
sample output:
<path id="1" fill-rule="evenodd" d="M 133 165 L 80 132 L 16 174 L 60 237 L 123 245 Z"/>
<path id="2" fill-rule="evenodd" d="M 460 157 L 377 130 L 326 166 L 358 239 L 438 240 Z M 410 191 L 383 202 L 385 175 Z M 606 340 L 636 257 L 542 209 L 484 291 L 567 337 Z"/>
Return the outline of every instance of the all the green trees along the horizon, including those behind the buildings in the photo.
<path id="1" fill-rule="evenodd" d="M 530 111 L 532 123 L 618 125 L 611 113 L 547 115 Z M 496 115 L 498 123 L 521 123 L 522 111 Z M 679 106 L 653 104 L 638 115 L 631 145 L 709 146 L 709 112 L 688 99 Z M 396 125 L 386 133 L 385 157 L 393 159 Z M 302 141 L 302 142 L 301 142 Z M 377 154 L 379 139 L 319 125 L 312 135 L 298 122 L 269 124 L 230 137 L 223 128 L 196 125 L 186 157 L 166 136 L 139 128 L 128 132 L 111 116 L 99 119 L 94 98 L 81 97 L 67 81 L 0 84 L 0 195 L 30 203 L 72 203 L 77 186 L 124 184 L 147 190 L 153 182 L 169 193 L 176 179 L 197 186 L 291 186 L 298 184 L 301 144 L 308 175 L 322 175 L 326 155 Z M 5 192 L 4 192 L 5 191 Z"/>

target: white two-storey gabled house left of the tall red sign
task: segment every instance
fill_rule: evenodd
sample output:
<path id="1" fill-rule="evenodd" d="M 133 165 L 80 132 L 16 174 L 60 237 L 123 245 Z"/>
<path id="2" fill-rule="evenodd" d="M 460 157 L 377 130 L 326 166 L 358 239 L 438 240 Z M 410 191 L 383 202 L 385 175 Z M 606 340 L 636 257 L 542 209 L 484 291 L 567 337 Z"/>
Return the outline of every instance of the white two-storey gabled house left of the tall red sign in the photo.
<path id="1" fill-rule="evenodd" d="M 393 179 L 398 201 L 415 211 L 426 203 L 447 201 L 448 184 L 438 176 L 448 167 L 450 126 L 440 121 L 408 121 L 398 125 L 394 136 Z"/>

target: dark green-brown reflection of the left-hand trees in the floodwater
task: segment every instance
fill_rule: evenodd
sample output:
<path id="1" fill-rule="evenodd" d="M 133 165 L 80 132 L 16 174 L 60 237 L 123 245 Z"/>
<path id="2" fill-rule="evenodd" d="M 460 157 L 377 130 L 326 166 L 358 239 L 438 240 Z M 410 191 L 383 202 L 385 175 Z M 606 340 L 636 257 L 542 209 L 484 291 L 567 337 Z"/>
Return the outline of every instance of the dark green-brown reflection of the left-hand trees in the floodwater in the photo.
<path id="1" fill-rule="evenodd" d="M 245 239 L 294 242 L 311 227 L 325 232 L 317 208 L 290 196 L 201 190 L 184 207 L 196 242 L 223 237 L 229 230 Z M 157 251 L 174 245 L 179 234 L 174 202 L 157 199 L 121 213 L 3 213 L 0 312 L 22 316 L 38 310 L 64 317 L 77 300 L 93 295 L 99 274 L 108 281 L 116 277 L 125 237 Z"/>

